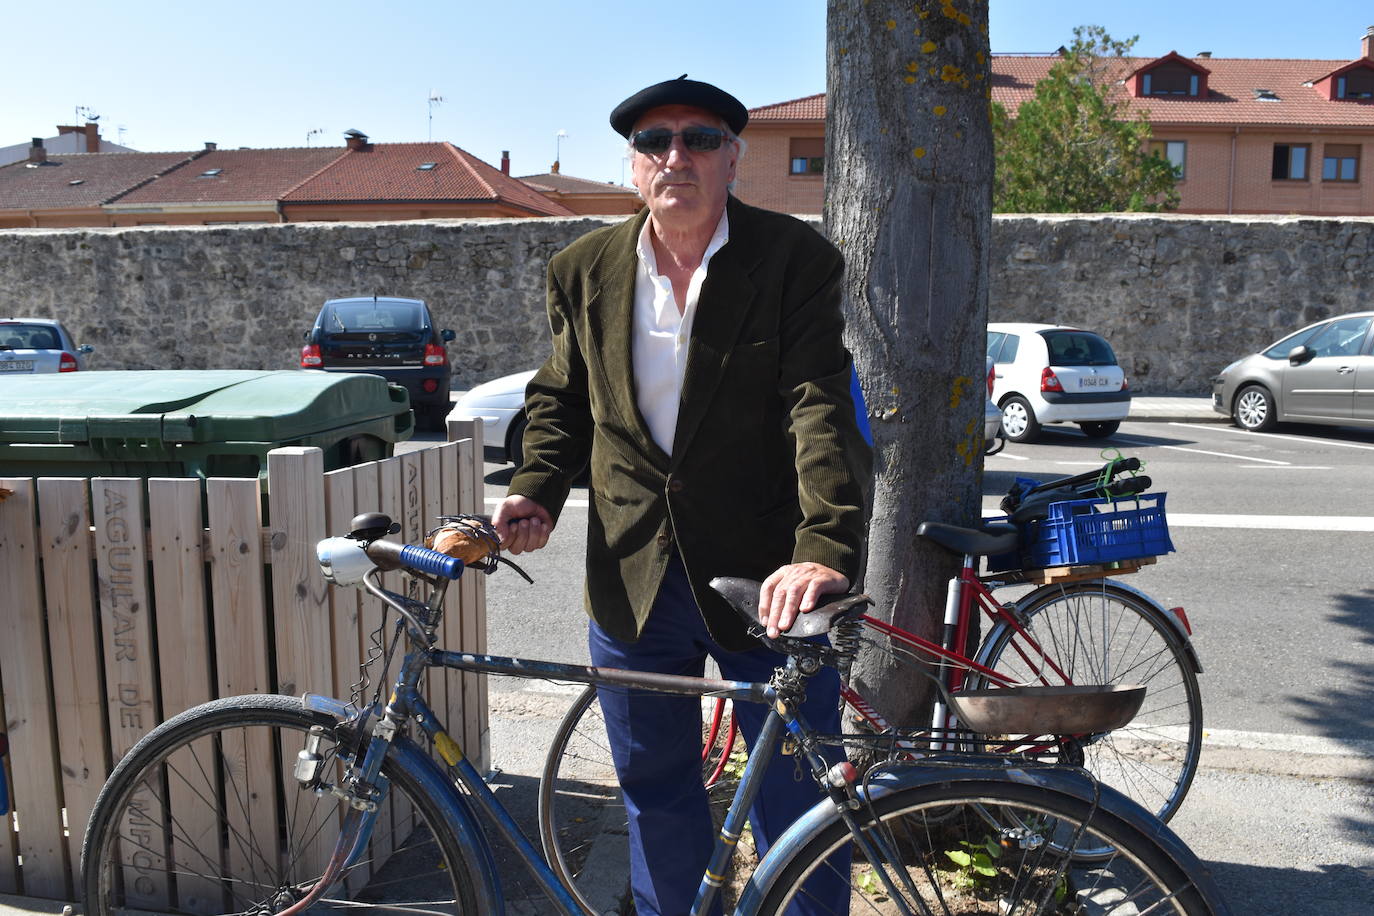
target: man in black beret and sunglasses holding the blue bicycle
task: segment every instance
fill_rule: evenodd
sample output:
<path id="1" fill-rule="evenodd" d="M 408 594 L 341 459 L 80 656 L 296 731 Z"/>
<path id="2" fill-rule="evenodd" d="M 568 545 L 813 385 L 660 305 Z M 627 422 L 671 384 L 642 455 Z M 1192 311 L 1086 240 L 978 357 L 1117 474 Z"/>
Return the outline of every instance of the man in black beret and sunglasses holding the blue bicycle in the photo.
<path id="1" fill-rule="evenodd" d="M 760 619 L 786 629 L 859 575 L 870 455 L 841 341 L 842 258 L 798 220 L 730 194 L 746 108 L 686 77 L 622 102 L 644 210 L 548 268 L 552 354 L 526 391 L 525 460 L 495 523 L 513 552 L 544 547 L 589 466 L 585 600 L 592 663 L 768 680 L 782 656 L 709 586 L 763 581 Z M 838 683 L 811 681 L 807 718 L 838 732 Z M 690 912 L 710 854 L 695 698 L 602 688 L 631 828 L 640 916 Z M 753 742 L 767 710 L 739 703 Z M 768 845 L 820 799 L 794 758 L 750 812 Z M 826 869 L 822 869 L 824 872 Z M 797 912 L 848 912 L 848 869 Z"/>

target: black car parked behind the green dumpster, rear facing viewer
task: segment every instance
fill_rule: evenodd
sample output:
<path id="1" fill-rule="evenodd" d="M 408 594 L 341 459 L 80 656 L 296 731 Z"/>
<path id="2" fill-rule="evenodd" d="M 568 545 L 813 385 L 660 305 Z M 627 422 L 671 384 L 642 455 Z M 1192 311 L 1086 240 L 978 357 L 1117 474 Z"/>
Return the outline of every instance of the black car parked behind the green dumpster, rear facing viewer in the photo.
<path id="1" fill-rule="evenodd" d="M 381 375 L 405 386 L 418 427 L 444 428 L 453 374 L 444 345 L 452 339 L 448 328 L 434 330 L 422 299 L 330 299 L 305 332 L 301 368 Z"/>

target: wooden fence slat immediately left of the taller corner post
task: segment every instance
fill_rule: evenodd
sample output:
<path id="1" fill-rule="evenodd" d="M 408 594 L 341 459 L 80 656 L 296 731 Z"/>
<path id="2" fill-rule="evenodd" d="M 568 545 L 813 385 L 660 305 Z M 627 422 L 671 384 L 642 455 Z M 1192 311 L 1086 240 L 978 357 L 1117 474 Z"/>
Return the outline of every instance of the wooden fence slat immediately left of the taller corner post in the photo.
<path id="1" fill-rule="evenodd" d="M 210 586 L 214 651 L 220 696 L 267 694 L 268 633 L 262 614 L 262 527 L 257 479 L 206 481 L 210 511 Z M 232 735 L 223 742 L 223 765 L 240 779 L 225 798 L 229 831 L 228 872 L 245 880 L 261 875 L 245 849 L 256 845 L 268 861 L 279 861 L 276 843 L 276 773 L 269 765 L 267 735 Z M 236 838 L 253 838 L 238 842 Z"/>

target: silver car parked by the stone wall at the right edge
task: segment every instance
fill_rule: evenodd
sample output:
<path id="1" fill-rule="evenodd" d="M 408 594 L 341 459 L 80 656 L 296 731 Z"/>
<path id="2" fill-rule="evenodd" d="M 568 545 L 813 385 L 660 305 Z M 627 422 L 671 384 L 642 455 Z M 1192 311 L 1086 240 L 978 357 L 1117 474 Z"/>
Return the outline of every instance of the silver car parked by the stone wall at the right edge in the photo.
<path id="1" fill-rule="evenodd" d="M 1374 427 L 1374 312 L 1309 324 L 1212 379 L 1212 409 L 1242 430 Z"/>

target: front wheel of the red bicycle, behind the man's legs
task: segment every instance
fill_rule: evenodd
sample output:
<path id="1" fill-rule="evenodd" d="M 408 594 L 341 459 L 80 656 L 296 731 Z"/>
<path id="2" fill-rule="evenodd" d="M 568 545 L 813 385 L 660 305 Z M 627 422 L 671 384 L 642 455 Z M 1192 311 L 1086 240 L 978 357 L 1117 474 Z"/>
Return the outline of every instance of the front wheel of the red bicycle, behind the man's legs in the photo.
<path id="1" fill-rule="evenodd" d="M 728 709 L 717 726 L 703 728 L 702 781 L 713 799 L 730 798 L 736 784 L 721 755 L 742 742 L 725 717 Z M 550 868 L 585 913 L 598 916 L 628 898 L 629 827 L 595 685 L 573 700 L 544 757 L 539 838 Z"/>

